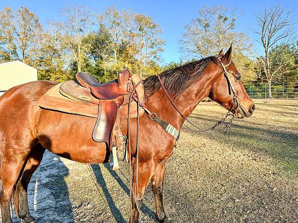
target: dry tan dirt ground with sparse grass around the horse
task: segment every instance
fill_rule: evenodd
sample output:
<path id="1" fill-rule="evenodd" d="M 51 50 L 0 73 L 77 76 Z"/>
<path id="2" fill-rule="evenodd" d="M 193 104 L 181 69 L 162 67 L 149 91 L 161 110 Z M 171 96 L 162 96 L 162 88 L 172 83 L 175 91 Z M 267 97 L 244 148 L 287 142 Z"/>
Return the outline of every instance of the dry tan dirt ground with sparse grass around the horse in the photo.
<path id="1" fill-rule="evenodd" d="M 298 222 L 298 101 L 256 100 L 230 134 L 183 127 L 166 165 L 165 211 L 175 223 Z M 226 111 L 201 103 L 202 128 Z M 130 215 L 128 164 L 112 171 L 46 153 L 29 185 L 36 223 L 123 223 Z M 155 222 L 149 187 L 140 222 Z M 15 217 L 13 222 L 19 222 Z"/>

